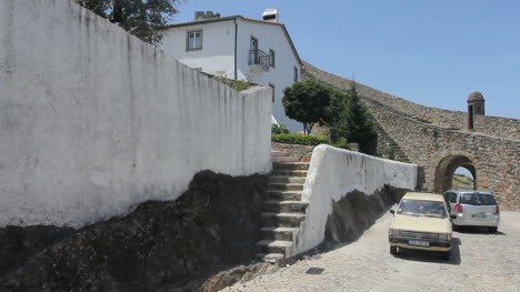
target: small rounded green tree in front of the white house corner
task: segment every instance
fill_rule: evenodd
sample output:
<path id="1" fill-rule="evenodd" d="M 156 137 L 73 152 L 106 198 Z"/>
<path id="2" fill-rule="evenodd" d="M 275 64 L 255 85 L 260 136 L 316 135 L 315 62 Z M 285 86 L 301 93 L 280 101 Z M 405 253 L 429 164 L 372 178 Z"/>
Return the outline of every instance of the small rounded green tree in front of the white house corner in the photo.
<path id="1" fill-rule="evenodd" d="M 303 123 L 303 133 L 310 134 L 317 123 L 327 120 L 330 89 L 316 80 L 296 82 L 283 90 L 287 117 Z"/>

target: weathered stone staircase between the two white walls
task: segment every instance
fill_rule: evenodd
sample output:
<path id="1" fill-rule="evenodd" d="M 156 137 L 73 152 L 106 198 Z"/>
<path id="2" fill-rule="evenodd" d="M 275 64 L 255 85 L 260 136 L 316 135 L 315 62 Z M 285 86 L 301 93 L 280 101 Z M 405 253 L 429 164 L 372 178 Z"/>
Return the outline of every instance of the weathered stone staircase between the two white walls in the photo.
<path id="1" fill-rule="evenodd" d="M 299 162 L 286 152 L 271 151 L 273 171 L 269 179 L 269 199 L 263 205 L 262 240 L 257 243 L 258 256 L 267 262 L 286 259 L 293 244 L 308 203 L 301 201 L 309 162 Z"/>

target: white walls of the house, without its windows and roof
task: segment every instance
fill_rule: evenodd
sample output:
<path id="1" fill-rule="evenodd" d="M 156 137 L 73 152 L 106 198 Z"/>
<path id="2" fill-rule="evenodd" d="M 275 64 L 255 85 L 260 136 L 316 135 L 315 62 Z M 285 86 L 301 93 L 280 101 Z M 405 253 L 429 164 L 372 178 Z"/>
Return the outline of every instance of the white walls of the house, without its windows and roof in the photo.
<path id="1" fill-rule="evenodd" d="M 298 68 L 298 80 L 300 80 L 300 64 L 282 27 L 241 18 L 237 19 L 237 79 L 266 87 L 272 83 L 274 85 L 272 104 L 274 118 L 292 132 L 303 130 L 302 123 L 286 115 L 281 102 L 283 90 L 292 85 L 294 81 L 294 67 Z M 192 30 L 202 30 L 202 50 L 186 50 L 187 32 Z M 163 32 L 160 48 L 191 68 L 200 68 L 210 74 L 234 79 L 234 20 L 171 28 Z M 251 37 L 257 38 L 259 49 L 263 52 L 269 53 L 270 49 L 274 50 L 274 68 L 264 71 L 258 66 L 249 66 Z"/>

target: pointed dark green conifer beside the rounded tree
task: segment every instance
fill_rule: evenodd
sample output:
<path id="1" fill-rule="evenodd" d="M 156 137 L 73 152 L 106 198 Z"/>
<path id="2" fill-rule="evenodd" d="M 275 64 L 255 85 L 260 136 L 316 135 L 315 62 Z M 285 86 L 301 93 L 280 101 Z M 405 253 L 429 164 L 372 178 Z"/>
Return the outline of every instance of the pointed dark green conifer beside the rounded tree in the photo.
<path id="1" fill-rule="evenodd" d="M 377 137 L 368 110 L 361 105 L 356 82 L 343 92 L 334 92 L 331 98 L 331 119 L 329 131 L 331 141 L 346 138 L 349 142 L 359 143 L 361 152 L 371 153 Z"/>

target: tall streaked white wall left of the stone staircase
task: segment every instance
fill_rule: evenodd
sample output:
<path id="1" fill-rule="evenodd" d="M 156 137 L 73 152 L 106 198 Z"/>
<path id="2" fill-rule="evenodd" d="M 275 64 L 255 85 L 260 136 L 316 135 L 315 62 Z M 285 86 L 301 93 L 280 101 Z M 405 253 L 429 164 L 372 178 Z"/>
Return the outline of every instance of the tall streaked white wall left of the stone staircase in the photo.
<path id="1" fill-rule="evenodd" d="M 81 226 L 193 174 L 268 172 L 271 92 L 238 93 L 69 0 L 0 1 L 0 226 Z"/>

